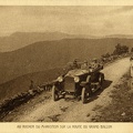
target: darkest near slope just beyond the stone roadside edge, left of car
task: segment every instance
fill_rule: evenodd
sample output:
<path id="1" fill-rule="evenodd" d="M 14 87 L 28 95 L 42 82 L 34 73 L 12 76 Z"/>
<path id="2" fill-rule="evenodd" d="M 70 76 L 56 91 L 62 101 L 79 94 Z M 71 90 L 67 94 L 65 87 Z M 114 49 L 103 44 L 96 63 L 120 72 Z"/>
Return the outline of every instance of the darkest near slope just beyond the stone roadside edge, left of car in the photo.
<path id="1" fill-rule="evenodd" d="M 33 81 L 33 85 L 37 88 L 38 85 L 42 85 L 55 80 L 61 72 L 62 69 L 51 69 L 18 76 L 17 79 L 0 84 L 0 102 L 4 99 L 9 99 L 28 91 L 31 80 Z"/>

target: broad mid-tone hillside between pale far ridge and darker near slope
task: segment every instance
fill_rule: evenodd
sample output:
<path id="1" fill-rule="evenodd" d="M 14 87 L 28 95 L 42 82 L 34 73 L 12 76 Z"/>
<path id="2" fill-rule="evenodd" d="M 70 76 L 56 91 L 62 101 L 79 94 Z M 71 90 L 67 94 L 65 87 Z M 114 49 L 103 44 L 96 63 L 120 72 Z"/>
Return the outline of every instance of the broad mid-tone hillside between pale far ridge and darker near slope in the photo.
<path id="1" fill-rule="evenodd" d="M 0 83 L 28 73 L 62 68 L 78 58 L 90 60 L 112 52 L 116 43 L 132 47 L 133 40 L 126 39 L 64 39 L 42 41 L 25 48 L 0 53 Z"/>

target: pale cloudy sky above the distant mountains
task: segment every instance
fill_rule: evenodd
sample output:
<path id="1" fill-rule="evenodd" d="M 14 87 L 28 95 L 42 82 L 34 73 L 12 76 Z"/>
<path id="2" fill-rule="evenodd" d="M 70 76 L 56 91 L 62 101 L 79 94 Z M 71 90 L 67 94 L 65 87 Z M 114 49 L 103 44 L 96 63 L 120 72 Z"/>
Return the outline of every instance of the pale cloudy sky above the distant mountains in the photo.
<path id="1" fill-rule="evenodd" d="M 0 6 L 0 35 L 13 32 L 133 34 L 133 6 Z"/>

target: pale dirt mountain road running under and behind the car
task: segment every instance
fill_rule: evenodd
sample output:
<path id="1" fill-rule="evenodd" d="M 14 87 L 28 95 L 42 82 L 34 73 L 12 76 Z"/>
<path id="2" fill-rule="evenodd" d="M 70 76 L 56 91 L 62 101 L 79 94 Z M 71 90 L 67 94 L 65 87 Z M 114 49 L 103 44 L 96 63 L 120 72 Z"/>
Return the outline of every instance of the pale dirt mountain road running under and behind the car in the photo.
<path id="1" fill-rule="evenodd" d="M 64 99 L 53 102 L 51 99 L 44 100 L 44 95 L 42 94 L 40 95 L 42 102 L 32 102 L 25 104 L 24 108 L 19 108 L 17 112 L 21 113 L 16 113 L 16 116 L 12 116 L 13 119 L 11 119 L 11 121 L 90 122 L 92 121 L 92 116 L 95 116 L 99 113 L 95 111 L 96 108 L 104 108 L 111 102 L 110 94 L 114 89 L 113 85 L 115 85 L 121 76 L 127 72 L 129 68 L 129 58 L 105 66 L 103 69 L 106 80 L 104 83 L 104 90 L 102 92 L 96 92 L 86 104 L 82 104 L 81 101 L 65 101 Z M 6 120 L 8 120 L 8 116 Z"/>

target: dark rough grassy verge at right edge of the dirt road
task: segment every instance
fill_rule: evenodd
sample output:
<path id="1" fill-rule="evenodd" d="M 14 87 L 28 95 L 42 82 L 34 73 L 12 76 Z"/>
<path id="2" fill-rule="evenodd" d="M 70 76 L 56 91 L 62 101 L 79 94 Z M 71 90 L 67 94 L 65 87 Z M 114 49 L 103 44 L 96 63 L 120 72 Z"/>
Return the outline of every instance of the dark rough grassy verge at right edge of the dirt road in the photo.
<path id="1" fill-rule="evenodd" d="M 113 86 L 112 102 L 104 109 L 98 110 L 94 122 L 133 122 L 133 89 L 130 88 L 130 72 L 121 78 L 121 83 Z"/>

